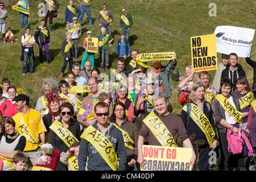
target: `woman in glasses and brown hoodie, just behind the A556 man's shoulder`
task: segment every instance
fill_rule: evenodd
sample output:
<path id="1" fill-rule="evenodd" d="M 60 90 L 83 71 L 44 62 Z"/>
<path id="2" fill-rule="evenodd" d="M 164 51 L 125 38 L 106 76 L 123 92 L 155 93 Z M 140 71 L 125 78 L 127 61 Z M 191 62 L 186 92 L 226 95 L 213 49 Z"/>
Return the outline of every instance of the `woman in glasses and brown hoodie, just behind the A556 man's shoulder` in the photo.
<path id="1" fill-rule="evenodd" d="M 126 134 L 129 137 L 123 138 L 125 142 L 125 149 L 126 149 L 126 170 L 133 171 L 137 156 L 137 141 L 138 141 L 138 129 L 134 123 L 128 121 L 128 118 L 125 115 L 125 105 L 122 102 L 116 102 L 114 105 L 114 113 L 110 118 L 110 122 L 114 123 L 117 127 L 119 127 L 122 131 L 123 136 Z"/>

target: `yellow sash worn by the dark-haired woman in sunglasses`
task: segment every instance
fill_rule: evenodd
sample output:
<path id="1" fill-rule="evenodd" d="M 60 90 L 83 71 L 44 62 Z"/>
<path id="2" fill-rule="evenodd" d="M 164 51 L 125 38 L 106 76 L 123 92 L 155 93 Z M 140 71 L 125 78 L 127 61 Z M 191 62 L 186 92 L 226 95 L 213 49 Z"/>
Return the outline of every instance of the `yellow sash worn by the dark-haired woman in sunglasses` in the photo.
<path id="1" fill-rule="evenodd" d="M 63 126 L 63 124 L 59 121 L 55 121 L 52 123 L 51 126 L 49 126 L 49 128 L 54 131 L 54 133 L 56 135 L 58 135 L 58 137 L 61 138 L 61 140 L 63 140 L 63 142 L 70 148 L 70 146 L 75 143 L 75 142 L 79 142 L 79 140 L 71 133 L 71 131 L 69 131 L 67 128 L 65 128 Z"/>

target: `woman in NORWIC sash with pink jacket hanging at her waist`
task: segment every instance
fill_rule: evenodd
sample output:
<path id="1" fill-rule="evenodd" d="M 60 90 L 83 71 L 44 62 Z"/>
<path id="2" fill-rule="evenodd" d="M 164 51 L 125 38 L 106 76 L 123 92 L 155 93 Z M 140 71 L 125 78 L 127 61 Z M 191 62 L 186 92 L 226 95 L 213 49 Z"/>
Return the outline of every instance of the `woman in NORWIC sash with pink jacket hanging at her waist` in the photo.
<path id="1" fill-rule="evenodd" d="M 220 86 L 221 94 L 214 98 L 212 105 L 221 151 L 218 168 L 233 171 L 234 168 L 244 167 L 243 158 L 253 155 L 253 149 L 241 129 L 241 120 L 247 113 L 240 112 L 238 98 L 230 95 L 233 86 L 231 80 L 224 78 Z"/>

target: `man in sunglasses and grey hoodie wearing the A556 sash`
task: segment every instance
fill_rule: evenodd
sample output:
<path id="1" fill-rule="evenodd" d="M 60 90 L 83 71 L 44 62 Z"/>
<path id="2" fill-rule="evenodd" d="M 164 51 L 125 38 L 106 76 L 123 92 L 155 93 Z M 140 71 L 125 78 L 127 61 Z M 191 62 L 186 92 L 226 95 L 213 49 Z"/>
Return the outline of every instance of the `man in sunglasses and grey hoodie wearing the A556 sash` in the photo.
<path id="1" fill-rule="evenodd" d="M 85 129 L 81 135 L 79 171 L 85 171 L 87 160 L 89 171 L 124 171 L 126 163 L 125 143 L 122 132 L 108 122 L 109 105 L 105 102 L 98 102 L 94 111 L 97 122 Z M 88 130 L 93 131 L 96 135 L 93 136 L 90 131 L 88 134 Z M 119 165 L 116 165 L 117 163 L 112 159 L 116 161 L 118 158 L 120 159 Z M 114 163 L 114 165 L 109 163 Z"/>

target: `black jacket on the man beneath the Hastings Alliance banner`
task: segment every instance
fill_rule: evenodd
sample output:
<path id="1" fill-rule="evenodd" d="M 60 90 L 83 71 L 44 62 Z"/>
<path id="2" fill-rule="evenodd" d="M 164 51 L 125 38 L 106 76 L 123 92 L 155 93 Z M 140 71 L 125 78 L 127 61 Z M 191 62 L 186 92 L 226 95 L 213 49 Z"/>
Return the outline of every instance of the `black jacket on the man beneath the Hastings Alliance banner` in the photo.
<path id="1" fill-rule="evenodd" d="M 233 92 L 234 90 L 236 90 L 237 78 L 241 76 L 246 77 L 246 75 L 245 75 L 245 71 L 243 71 L 242 66 L 238 63 L 237 63 L 236 71 L 232 71 L 229 68 L 230 68 L 230 64 L 226 65 L 226 68 L 221 73 L 221 80 L 224 78 L 230 78 L 233 84 L 233 89 L 232 89 L 232 92 Z"/>

